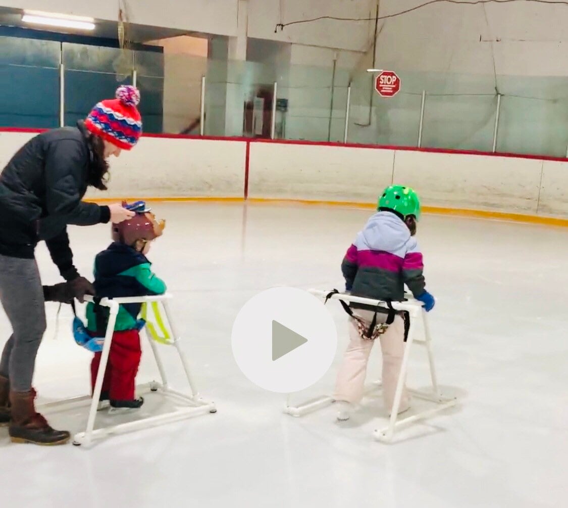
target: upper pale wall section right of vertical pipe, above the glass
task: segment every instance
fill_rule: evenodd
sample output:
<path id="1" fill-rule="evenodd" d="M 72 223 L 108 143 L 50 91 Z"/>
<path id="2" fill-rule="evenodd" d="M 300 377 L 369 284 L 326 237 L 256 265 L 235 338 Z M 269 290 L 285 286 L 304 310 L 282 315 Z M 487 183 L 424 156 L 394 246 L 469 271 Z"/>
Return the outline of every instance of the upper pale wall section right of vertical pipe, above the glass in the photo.
<path id="1" fill-rule="evenodd" d="M 381 0 L 379 14 L 421 3 Z M 438 3 L 383 20 L 377 59 L 400 70 L 567 76 L 567 16 L 566 5 L 550 3 Z"/>

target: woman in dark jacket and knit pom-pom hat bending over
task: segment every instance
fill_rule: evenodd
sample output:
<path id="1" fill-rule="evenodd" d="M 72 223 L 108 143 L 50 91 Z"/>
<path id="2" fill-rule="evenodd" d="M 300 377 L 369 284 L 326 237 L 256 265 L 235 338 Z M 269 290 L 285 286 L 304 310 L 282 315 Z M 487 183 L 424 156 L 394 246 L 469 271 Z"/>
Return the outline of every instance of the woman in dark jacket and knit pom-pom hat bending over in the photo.
<path id="1" fill-rule="evenodd" d="M 130 150 L 142 123 L 140 94 L 120 86 L 116 98 L 99 102 L 77 127 L 53 129 L 28 141 L 0 175 L 0 301 L 12 336 L 0 360 L 0 425 L 9 424 L 17 443 L 63 444 L 57 431 L 35 411 L 35 358 L 45 332 L 45 301 L 83 302 L 91 283 L 73 266 L 67 225 L 122 222 L 134 216 L 121 204 L 99 206 L 82 200 L 90 185 L 105 190 L 107 159 Z M 34 258 L 44 240 L 65 283 L 41 286 Z"/>

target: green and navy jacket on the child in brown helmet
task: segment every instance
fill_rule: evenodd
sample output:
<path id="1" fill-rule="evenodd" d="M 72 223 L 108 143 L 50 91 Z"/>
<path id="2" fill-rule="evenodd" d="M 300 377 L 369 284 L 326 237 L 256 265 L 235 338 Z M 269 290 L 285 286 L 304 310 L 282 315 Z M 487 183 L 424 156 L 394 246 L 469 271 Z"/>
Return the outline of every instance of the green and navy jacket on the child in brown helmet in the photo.
<path id="1" fill-rule="evenodd" d="M 166 284 L 152 273 L 151 263 L 144 254 L 124 243 L 111 243 L 97 254 L 94 266 L 94 287 L 98 298 L 124 298 L 126 296 L 162 295 Z M 115 331 L 136 328 L 140 303 L 120 305 Z M 108 308 L 87 304 L 87 329 L 104 335 L 108 322 Z"/>

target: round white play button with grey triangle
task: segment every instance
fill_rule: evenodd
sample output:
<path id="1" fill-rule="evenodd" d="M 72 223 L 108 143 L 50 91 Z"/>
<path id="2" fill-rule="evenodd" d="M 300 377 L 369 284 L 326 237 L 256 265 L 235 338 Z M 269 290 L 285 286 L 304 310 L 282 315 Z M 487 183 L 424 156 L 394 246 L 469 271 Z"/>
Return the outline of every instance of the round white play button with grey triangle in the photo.
<path id="1" fill-rule="evenodd" d="M 320 299 L 276 287 L 245 303 L 233 323 L 231 343 L 235 361 L 250 381 L 265 390 L 293 393 L 329 370 L 337 331 Z"/>

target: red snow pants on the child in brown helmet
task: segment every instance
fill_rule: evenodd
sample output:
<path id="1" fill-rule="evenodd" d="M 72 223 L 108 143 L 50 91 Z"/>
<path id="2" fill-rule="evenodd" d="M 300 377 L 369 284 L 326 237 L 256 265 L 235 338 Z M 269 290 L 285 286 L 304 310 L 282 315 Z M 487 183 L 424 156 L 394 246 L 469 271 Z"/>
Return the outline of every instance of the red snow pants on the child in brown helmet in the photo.
<path id="1" fill-rule="evenodd" d="M 135 381 L 142 350 L 137 330 L 114 332 L 103 379 L 101 399 L 108 394 L 110 400 L 134 400 Z M 101 353 L 95 353 L 91 362 L 91 393 L 95 389 Z"/>

